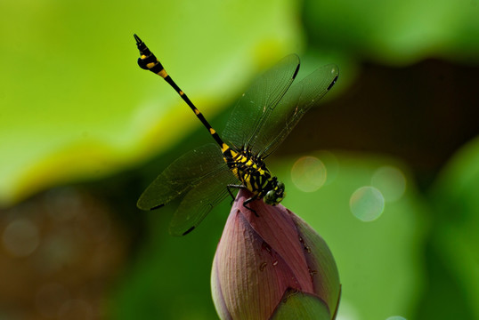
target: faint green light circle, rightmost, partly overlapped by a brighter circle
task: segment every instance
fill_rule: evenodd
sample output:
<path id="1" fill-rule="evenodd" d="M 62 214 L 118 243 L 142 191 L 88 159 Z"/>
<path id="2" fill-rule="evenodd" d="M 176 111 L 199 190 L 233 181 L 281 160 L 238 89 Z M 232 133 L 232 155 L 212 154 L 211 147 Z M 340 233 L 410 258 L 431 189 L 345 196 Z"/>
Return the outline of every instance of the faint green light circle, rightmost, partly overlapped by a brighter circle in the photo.
<path id="1" fill-rule="evenodd" d="M 386 202 L 394 202 L 406 191 L 406 177 L 398 168 L 385 165 L 374 172 L 371 186 L 381 190 Z"/>

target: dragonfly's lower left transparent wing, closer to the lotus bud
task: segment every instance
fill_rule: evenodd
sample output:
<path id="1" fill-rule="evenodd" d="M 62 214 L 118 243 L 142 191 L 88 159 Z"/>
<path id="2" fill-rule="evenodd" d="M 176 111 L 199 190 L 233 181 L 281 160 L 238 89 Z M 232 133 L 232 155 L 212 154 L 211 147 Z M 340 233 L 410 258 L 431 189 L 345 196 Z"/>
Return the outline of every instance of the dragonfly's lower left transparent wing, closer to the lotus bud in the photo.
<path id="1" fill-rule="evenodd" d="M 224 170 L 199 181 L 184 196 L 171 220 L 169 227 L 171 235 L 184 236 L 190 233 L 216 204 L 229 196 L 227 185 L 238 184 L 239 181 L 226 165 L 223 168 Z"/>

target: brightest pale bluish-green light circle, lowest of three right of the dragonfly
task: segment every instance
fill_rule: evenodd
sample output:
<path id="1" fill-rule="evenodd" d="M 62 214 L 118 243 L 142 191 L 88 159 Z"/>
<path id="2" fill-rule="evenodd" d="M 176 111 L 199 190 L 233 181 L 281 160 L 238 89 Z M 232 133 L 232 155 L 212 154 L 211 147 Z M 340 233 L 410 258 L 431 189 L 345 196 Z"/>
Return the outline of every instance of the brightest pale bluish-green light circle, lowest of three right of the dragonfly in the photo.
<path id="1" fill-rule="evenodd" d="M 353 192 L 349 199 L 349 208 L 359 220 L 377 220 L 384 211 L 385 198 L 377 188 L 364 186 Z"/>

